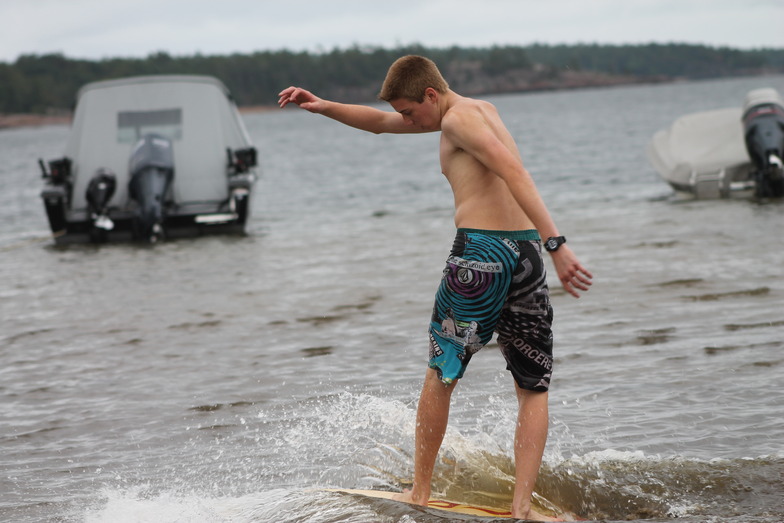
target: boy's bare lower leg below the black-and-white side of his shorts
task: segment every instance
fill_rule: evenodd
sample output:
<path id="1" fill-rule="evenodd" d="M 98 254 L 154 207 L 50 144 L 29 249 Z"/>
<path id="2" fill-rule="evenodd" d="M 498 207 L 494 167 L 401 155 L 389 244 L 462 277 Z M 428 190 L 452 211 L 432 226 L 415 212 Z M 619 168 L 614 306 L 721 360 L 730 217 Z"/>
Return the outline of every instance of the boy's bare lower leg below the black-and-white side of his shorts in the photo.
<path id="1" fill-rule="evenodd" d="M 515 383 L 519 410 L 515 430 L 515 491 L 512 517 L 535 521 L 563 521 L 531 508 L 531 496 L 547 442 L 549 413 L 547 392 L 521 389 Z"/>

